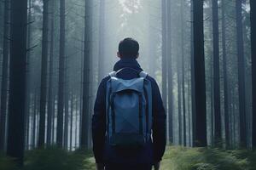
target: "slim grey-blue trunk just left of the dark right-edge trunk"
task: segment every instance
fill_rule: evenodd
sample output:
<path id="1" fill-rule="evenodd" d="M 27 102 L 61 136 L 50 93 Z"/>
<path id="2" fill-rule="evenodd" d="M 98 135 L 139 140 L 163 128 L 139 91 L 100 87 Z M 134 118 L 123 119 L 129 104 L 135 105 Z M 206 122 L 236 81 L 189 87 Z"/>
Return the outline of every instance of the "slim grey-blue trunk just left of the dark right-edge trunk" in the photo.
<path id="1" fill-rule="evenodd" d="M 240 113 L 240 146 L 247 147 L 247 119 L 245 101 L 245 59 L 242 34 L 241 0 L 236 0 L 236 41 L 238 58 L 238 94 Z"/>

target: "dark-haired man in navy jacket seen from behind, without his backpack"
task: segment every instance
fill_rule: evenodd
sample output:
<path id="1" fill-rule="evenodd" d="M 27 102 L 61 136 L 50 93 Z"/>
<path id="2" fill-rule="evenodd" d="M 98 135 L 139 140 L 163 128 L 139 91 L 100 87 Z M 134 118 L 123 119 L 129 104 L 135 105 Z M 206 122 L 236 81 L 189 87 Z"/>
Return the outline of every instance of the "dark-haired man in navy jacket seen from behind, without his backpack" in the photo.
<path id="1" fill-rule="evenodd" d="M 143 69 L 137 62 L 139 44 L 132 38 L 125 38 L 119 42 L 119 61 L 113 71 L 118 71 L 116 77 L 122 80 L 131 80 L 138 77 L 137 72 Z M 124 69 L 129 68 L 129 69 Z M 152 91 L 152 126 L 149 139 L 140 149 L 115 148 L 108 141 L 108 103 L 107 83 L 111 76 L 103 78 L 96 94 L 94 115 L 92 117 L 93 151 L 98 170 L 149 170 L 160 168 L 160 161 L 166 148 L 166 112 L 160 96 L 160 90 L 154 78 L 146 75 L 145 79 L 151 82 Z M 151 93 L 151 92 L 150 92 Z M 152 132 L 152 135 L 151 135 Z"/>

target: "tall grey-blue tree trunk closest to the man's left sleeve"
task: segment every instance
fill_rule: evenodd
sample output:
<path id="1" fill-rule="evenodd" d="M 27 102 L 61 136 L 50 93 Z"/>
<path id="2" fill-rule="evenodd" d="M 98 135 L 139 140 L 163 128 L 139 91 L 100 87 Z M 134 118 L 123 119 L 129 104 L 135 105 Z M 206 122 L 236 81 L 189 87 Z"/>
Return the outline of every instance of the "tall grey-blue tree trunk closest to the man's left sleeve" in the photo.
<path id="1" fill-rule="evenodd" d="M 89 147 L 89 111 L 90 111 L 90 34 L 91 34 L 91 0 L 84 0 L 84 84 L 83 84 L 83 111 L 81 125 L 81 147 Z"/>

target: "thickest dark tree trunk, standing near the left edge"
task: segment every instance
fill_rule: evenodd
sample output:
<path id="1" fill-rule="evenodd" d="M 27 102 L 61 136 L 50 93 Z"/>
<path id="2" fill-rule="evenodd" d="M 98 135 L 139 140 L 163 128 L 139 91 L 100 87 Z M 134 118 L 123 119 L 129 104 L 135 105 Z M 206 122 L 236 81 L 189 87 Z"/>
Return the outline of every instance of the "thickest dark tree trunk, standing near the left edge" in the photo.
<path id="1" fill-rule="evenodd" d="M 26 99 L 27 1 L 11 0 L 9 64 L 9 134 L 7 155 L 23 164 Z"/>

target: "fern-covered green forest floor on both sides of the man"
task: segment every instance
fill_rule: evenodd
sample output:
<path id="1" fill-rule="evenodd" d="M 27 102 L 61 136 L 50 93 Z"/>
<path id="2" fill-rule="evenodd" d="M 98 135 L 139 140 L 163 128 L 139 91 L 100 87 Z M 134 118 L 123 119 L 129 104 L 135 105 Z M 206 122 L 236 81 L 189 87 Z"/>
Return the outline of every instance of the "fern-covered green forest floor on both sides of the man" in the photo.
<path id="1" fill-rule="evenodd" d="M 16 170 L 13 160 L 0 156 L 1 170 Z M 92 153 L 52 148 L 26 152 L 22 170 L 94 170 Z M 168 146 L 161 170 L 256 170 L 256 152 Z"/>

